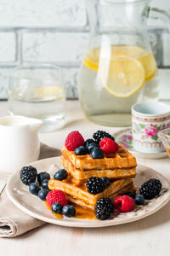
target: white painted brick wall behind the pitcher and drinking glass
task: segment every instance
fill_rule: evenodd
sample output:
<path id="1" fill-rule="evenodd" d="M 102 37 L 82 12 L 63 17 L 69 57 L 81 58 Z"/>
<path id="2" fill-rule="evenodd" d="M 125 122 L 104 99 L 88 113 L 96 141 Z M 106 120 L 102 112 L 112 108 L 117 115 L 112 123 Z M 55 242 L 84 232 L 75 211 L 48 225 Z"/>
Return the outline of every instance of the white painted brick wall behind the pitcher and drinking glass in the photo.
<path id="1" fill-rule="evenodd" d="M 93 1 L 93 0 L 91 0 Z M 170 0 L 152 6 L 170 9 Z M 77 73 L 88 44 L 85 0 L 0 0 L 0 99 L 8 97 L 8 73 L 23 62 L 53 62 L 63 68 L 68 97 L 77 97 Z M 169 38 L 152 35 L 160 65 L 170 66 Z M 160 41 L 159 44 L 156 44 Z M 166 43 L 167 42 L 167 43 Z M 170 53 L 169 53 L 170 54 Z M 162 56 L 161 56 L 162 55 Z"/>

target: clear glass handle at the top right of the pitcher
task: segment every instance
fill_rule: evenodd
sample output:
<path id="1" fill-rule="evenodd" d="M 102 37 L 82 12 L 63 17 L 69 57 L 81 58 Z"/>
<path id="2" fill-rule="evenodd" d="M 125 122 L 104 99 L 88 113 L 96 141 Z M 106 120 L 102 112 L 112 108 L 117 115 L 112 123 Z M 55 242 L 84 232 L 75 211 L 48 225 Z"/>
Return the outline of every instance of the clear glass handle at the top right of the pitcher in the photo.
<path id="1" fill-rule="evenodd" d="M 156 7 L 149 7 L 149 16 L 151 18 L 160 18 L 161 20 L 163 20 L 170 32 L 170 11 L 167 11 L 165 9 L 159 9 Z"/>

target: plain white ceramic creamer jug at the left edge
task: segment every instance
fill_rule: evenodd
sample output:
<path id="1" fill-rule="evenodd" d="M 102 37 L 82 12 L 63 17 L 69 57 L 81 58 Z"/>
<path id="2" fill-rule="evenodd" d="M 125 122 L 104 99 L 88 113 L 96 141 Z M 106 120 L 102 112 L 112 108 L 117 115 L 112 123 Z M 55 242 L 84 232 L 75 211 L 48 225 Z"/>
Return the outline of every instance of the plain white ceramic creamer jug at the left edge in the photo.
<path id="1" fill-rule="evenodd" d="M 17 171 L 38 159 L 41 126 L 41 120 L 24 116 L 0 118 L 0 172 Z"/>

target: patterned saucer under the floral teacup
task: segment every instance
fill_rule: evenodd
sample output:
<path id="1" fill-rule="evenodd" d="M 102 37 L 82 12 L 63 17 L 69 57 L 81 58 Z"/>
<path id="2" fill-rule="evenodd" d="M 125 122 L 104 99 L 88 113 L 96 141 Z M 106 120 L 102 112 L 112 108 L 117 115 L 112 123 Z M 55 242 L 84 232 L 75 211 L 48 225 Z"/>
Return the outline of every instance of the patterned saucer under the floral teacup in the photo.
<path id="1" fill-rule="evenodd" d="M 127 128 L 121 131 L 117 131 L 116 133 L 113 134 L 113 137 L 115 137 L 117 143 L 122 144 L 124 148 L 127 148 L 127 150 L 129 150 L 136 157 L 142 157 L 147 159 L 161 159 L 168 156 L 166 151 L 156 153 L 156 154 L 148 154 L 148 153 L 142 153 L 142 152 L 136 151 L 133 148 L 132 128 Z"/>

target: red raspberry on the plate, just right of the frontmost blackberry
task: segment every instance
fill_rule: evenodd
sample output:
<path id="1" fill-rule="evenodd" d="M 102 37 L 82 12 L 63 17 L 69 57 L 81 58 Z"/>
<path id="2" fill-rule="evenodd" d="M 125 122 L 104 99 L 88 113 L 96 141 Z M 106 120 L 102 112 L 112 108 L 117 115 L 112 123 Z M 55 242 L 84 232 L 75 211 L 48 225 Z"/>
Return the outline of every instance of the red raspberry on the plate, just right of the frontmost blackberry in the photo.
<path id="1" fill-rule="evenodd" d="M 134 200 L 128 195 L 117 196 L 114 204 L 120 212 L 131 212 L 134 208 Z"/>

